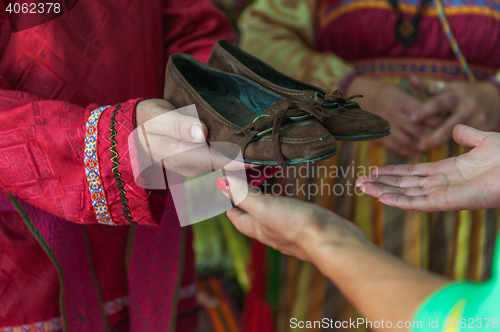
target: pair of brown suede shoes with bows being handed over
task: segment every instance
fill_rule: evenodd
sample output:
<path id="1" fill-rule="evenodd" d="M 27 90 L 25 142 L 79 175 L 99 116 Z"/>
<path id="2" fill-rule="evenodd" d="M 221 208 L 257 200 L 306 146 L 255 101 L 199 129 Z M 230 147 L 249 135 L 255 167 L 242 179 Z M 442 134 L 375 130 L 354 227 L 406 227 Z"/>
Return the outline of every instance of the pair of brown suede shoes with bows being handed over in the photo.
<path id="1" fill-rule="evenodd" d="M 337 140 L 390 134 L 385 119 L 352 101 L 361 96 L 328 94 L 225 40 L 215 44 L 207 65 L 187 54 L 172 55 L 165 82 L 164 98 L 172 105 L 196 105 L 207 142 L 245 163 L 298 165 L 335 155 Z"/>

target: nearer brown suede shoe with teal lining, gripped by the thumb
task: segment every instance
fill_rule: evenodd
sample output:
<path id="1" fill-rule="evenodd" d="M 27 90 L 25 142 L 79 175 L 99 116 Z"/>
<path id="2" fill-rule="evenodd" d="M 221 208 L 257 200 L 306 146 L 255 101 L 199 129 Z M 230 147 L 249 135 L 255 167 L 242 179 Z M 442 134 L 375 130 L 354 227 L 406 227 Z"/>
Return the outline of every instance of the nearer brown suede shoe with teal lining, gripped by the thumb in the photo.
<path id="1" fill-rule="evenodd" d="M 232 159 L 237 159 L 236 146 L 243 155 L 240 161 L 260 165 L 297 165 L 338 152 L 335 138 L 319 122 L 329 117 L 327 112 L 186 54 L 170 57 L 164 98 L 177 108 L 195 104 L 208 127 L 207 142 Z"/>

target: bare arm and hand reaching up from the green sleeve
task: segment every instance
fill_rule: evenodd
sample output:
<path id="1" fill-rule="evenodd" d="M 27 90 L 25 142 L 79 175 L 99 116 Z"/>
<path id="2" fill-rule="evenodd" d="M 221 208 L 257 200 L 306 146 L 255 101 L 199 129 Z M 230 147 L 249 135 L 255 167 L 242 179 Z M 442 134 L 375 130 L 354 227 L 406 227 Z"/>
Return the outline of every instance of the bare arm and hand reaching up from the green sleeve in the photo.
<path id="1" fill-rule="evenodd" d="M 369 243 L 349 221 L 317 205 L 266 196 L 229 178 L 237 208 L 229 219 L 242 233 L 310 261 L 371 321 L 410 320 L 418 305 L 449 281 L 423 272 Z M 218 183 L 224 190 L 224 184 Z M 402 296 L 404 294 L 404 296 Z"/>

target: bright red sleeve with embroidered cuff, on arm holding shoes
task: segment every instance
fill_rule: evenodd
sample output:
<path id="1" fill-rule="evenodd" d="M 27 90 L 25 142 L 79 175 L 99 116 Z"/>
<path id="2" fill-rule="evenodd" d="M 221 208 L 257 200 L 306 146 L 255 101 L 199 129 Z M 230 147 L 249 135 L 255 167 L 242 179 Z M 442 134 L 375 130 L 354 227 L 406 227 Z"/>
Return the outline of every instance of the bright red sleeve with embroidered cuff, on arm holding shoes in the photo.
<path id="1" fill-rule="evenodd" d="M 0 191 L 76 223 L 157 224 L 132 175 L 137 103 L 99 112 L 0 89 Z"/>

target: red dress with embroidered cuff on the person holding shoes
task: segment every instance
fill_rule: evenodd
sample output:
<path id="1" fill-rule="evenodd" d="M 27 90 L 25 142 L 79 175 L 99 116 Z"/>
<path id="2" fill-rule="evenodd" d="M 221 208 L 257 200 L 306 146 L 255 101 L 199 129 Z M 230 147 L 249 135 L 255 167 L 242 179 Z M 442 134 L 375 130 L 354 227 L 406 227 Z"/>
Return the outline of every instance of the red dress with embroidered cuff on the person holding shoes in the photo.
<path id="1" fill-rule="evenodd" d="M 209 0 L 81 0 L 12 33 L 0 11 L 0 331 L 170 330 L 190 234 L 168 195 L 135 184 L 128 136 L 168 56 L 206 61 L 229 22 Z"/>

